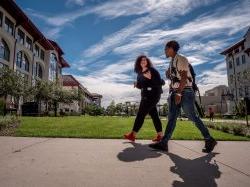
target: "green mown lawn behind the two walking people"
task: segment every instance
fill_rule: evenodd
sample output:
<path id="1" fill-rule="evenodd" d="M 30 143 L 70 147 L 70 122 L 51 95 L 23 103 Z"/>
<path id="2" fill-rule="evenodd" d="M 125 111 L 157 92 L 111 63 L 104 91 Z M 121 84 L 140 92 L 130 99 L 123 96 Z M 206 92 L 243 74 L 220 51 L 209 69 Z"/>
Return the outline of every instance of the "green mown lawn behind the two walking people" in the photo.
<path id="1" fill-rule="evenodd" d="M 123 138 L 131 130 L 134 118 L 126 117 L 21 117 L 21 125 L 16 136 L 32 137 L 74 137 L 74 138 Z M 166 121 L 162 121 L 165 129 Z M 250 138 L 210 129 L 217 140 L 247 140 Z M 146 119 L 138 134 L 138 139 L 151 139 L 155 136 L 151 119 Z M 178 121 L 173 139 L 201 140 L 202 136 L 194 124 Z"/>

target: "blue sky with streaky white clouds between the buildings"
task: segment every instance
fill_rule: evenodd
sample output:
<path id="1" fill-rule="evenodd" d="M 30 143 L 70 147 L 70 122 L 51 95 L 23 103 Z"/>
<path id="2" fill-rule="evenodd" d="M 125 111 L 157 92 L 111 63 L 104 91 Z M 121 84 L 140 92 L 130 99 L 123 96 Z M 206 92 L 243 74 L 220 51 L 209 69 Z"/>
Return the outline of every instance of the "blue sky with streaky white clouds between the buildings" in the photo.
<path id="1" fill-rule="evenodd" d="M 201 93 L 227 85 L 224 56 L 250 26 L 250 0 L 16 0 L 63 49 L 72 74 L 102 105 L 140 100 L 133 87 L 137 56 L 147 55 L 165 79 L 167 41 L 194 66 Z M 168 84 L 161 103 L 166 103 Z"/>

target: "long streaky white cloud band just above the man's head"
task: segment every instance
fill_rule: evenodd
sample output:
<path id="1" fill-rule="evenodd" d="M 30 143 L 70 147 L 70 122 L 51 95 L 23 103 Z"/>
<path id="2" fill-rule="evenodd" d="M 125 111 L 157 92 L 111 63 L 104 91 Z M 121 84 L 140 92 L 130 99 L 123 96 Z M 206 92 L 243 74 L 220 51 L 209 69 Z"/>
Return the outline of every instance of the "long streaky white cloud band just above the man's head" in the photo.
<path id="1" fill-rule="evenodd" d="M 232 4 L 226 8 L 220 8 L 214 13 L 203 15 L 192 20 L 179 28 L 154 29 L 133 35 L 131 40 L 121 44 L 113 51 L 117 54 L 126 54 L 133 51 L 149 50 L 170 39 L 183 41 L 183 52 L 198 52 L 199 55 L 208 56 L 219 53 L 228 45 L 228 39 L 214 39 L 218 35 L 230 37 L 232 34 L 250 25 L 250 1 Z M 208 39 L 208 42 L 200 42 Z M 211 40 L 212 39 L 212 40 Z M 190 42 L 190 43 L 188 43 Z"/>

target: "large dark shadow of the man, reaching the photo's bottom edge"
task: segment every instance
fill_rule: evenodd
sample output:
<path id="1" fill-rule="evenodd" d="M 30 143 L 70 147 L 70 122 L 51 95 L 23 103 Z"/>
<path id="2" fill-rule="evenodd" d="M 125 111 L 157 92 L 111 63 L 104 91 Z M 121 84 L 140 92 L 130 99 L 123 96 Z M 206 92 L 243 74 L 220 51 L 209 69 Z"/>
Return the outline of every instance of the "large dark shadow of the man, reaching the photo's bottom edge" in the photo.
<path id="1" fill-rule="evenodd" d="M 172 173 L 179 175 L 183 181 L 173 181 L 174 187 L 216 187 L 215 179 L 220 178 L 219 166 L 213 157 L 219 153 L 210 153 L 205 156 L 187 159 L 173 153 L 166 153 L 174 162 L 175 166 L 170 168 Z"/>

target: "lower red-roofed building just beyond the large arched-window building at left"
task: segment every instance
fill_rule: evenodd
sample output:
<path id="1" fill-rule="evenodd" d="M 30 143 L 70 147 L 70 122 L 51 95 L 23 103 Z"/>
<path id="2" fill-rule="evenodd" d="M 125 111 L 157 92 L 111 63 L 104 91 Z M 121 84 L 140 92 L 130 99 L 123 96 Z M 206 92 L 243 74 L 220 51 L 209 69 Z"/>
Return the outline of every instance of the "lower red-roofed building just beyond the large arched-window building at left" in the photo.
<path id="1" fill-rule="evenodd" d="M 60 108 L 64 112 L 78 112 L 83 113 L 84 109 L 91 104 L 95 104 L 101 107 L 102 95 L 97 93 L 90 93 L 79 81 L 77 81 L 72 75 L 63 75 L 63 88 L 65 90 L 76 90 L 78 93 L 83 94 L 81 101 L 74 101 L 71 104 L 60 104 Z"/>

